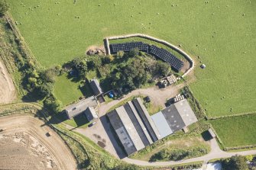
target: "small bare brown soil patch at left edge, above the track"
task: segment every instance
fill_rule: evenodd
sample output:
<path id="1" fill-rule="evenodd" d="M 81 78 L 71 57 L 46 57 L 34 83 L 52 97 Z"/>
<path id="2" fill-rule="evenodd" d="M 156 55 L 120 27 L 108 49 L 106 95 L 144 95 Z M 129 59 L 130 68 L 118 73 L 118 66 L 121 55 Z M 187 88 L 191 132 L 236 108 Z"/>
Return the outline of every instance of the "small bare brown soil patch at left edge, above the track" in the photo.
<path id="1" fill-rule="evenodd" d="M 16 91 L 7 69 L 0 59 L 0 104 L 7 104 L 15 100 Z"/>

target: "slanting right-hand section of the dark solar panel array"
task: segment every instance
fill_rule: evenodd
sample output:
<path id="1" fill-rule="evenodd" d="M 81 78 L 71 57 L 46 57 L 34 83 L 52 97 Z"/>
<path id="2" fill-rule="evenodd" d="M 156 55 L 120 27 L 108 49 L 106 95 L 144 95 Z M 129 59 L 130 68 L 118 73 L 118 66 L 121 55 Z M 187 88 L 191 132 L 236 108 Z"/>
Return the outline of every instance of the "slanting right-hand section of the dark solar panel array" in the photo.
<path id="1" fill-rule="evenodd" d="M 184 65 L 183 61 L 178 59 L 169 51 L 156 47 L 154 45 L 150 47 L 149 53 L 153 56 L 157 56 L 158 58 L 162 59 L 164 62 L 169 63 L 170 66 L 172 66 L 173 69 L 176 69 L 177 71 L 180 71 L 180 69 Z"/>

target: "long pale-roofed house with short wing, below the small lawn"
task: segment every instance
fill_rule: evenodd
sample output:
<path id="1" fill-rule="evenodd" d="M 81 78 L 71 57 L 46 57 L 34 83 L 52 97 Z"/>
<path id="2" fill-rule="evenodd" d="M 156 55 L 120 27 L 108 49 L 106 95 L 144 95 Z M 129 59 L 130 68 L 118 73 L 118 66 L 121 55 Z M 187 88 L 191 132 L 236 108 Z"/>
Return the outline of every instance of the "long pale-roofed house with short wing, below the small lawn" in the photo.
<path id="1" fill-rule="evenodd" d="M 91 96 L 89 98 L 83 99 L 76 104 L 70 104 L 66 107 L 65 112 L 67 117 L 71 119 L 79 114 L 84 113 L 89 121 L 98 118 L 95 107 L 98 106 L 98 102 L 95 96 Z"/>

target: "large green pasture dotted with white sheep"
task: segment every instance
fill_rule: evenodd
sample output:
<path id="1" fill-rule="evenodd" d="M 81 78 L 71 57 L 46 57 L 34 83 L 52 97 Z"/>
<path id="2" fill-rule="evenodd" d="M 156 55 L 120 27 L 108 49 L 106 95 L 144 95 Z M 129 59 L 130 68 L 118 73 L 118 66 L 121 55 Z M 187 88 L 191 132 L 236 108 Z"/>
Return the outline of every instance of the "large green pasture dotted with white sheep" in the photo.
<path id="1" fill-rule="evenodd" d="M 201 56 L 197 62 L 205 63 L 206 69 L 196 66 L 197 80 L 191 88 L 209 116 L 255 111 L 255 1 L 8 2 L 42 66 L 81 56 L 89 46 L 102 45 L 104 37 L 149 34 L 181 44 L 194 59 Z"/>

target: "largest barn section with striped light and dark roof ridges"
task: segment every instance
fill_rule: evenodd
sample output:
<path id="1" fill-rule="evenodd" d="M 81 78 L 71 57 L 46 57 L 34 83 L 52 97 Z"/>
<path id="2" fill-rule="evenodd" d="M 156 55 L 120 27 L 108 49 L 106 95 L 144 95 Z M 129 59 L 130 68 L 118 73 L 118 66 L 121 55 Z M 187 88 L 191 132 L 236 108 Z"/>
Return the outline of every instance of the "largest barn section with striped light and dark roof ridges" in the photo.
<path id="1" fill-rule="evenodd" d="M 159 140 L 160 133 L 142 104 L 141 98 L 128 101 L 107 116 L 127 155 Z"/>

